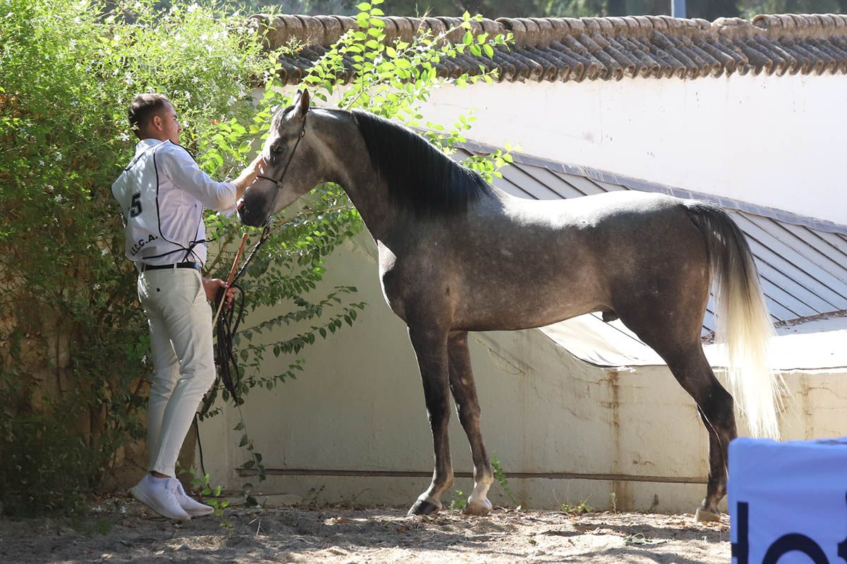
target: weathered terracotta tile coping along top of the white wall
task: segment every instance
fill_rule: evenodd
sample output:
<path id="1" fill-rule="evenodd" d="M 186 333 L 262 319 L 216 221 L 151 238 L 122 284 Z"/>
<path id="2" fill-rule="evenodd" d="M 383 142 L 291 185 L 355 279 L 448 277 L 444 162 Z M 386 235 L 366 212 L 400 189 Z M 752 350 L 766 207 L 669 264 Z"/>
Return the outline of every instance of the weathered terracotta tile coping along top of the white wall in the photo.
<path id="1" fill-rule="evenodd" d="M 280 78 L 296 84 L 356 19 L 347 16 L 250 17 L 268 30 L 268 47 L 305 46 L 280 59 Z M 459 18 L 383 18 L 387 42 L 411 41 L 416 33 L 444 32 Z M 722 74 L 847 74 L 847 15 L 758 15 L 739 18 L 675 19 L 669 16 L 623 18 L 499 18 L 473 22 L 473 34 L 511 32 L 511 49 L 495 47 L 493 59 L 469 53 L 442 59 L 442 77 L 479 74 L 479 65 L 500 71 L 501 81 L 620 80 L 623 78 L 697 79 Z M 464 30 L 447 41 L 461 41 Z M 353 78 L 345 59 L 342 78 Z"/>

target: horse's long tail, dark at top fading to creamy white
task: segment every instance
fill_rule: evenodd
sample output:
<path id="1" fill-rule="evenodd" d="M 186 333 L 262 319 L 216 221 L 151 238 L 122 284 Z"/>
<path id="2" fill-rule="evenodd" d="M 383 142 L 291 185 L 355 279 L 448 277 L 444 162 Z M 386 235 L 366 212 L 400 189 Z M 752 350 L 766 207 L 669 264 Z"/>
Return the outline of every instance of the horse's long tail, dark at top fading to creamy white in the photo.
<path id="1" fill-rule="evenodd" d="M 751 435 L 778 439 L 782 381 L 767 362 L 774 331 L 750 246 L 735 222 L 716 205 L 692 202 L 689 210 L 706 235 L 714 277 L 715 342 L 727 354 L 729 392 Z"/>

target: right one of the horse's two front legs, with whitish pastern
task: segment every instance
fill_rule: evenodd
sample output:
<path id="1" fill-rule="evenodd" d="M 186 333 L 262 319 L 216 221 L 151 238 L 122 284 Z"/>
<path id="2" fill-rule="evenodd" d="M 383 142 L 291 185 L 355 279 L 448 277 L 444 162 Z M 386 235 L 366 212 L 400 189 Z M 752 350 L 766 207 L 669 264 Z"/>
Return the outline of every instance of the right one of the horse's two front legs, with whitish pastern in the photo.
<path id="1" fill-rule="evenodd" d="M 494 481 L 488 455 L 479 428 L 479 400 L 476 385 L 473 383 L 470 353 L 468 352 L 468 331 L 451 333 L 447 343 L 450 355 L 450 388 L 456 401 L 456 411 L 473 457 L 473 492 L 468 497 L 464 512 L 471 515 L 485 515 L 491 510 L 488 501 L 488 489 Z"/>

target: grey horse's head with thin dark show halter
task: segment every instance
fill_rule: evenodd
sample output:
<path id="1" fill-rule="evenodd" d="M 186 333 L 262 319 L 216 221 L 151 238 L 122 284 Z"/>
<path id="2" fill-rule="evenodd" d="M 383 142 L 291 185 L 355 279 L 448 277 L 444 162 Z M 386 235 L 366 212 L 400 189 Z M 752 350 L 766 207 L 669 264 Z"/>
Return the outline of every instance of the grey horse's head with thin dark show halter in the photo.
<path id="1" fill-rule="evenodd" d="M 313 189 L 313 167 L 308 158 L 306 118 L 309 95 L 297 92 L 294 104 L 271 118 L 268 140 L 262 148 L 264 167 L 247 187 L 238 209 L 241 222 L 259 227 L 284 207 Z"/>

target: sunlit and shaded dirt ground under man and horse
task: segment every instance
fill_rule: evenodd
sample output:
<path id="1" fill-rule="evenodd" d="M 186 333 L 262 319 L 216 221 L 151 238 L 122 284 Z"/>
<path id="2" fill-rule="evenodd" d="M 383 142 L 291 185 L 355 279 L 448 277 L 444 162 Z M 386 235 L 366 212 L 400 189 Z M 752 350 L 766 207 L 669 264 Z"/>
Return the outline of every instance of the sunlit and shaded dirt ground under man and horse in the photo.
<path id="1" fill-rule="evenodd" d="M 660 562 L 730 561 L 729 524 L 691 515 L 520 512 L 486 517 L 399 508 L 227 509 L 175 523 L 128 499 L 102 501 L 75 520 L 0 520 L 10 564 L 164 562 Z"/>

